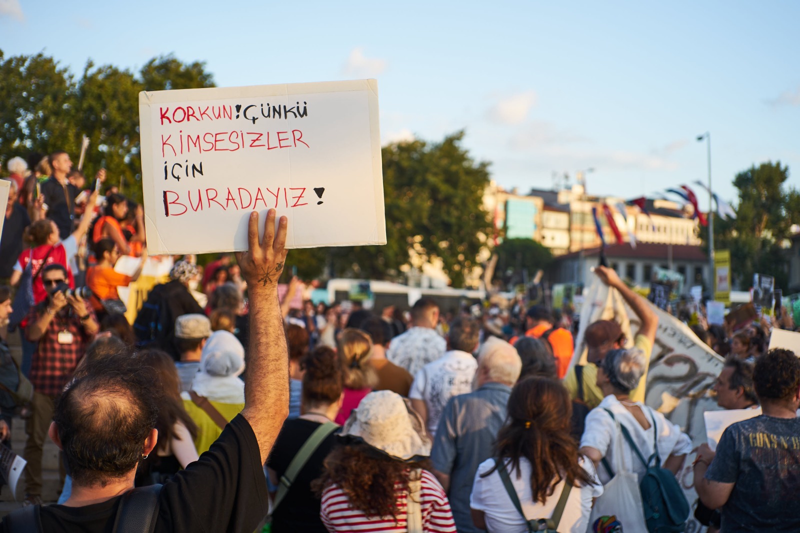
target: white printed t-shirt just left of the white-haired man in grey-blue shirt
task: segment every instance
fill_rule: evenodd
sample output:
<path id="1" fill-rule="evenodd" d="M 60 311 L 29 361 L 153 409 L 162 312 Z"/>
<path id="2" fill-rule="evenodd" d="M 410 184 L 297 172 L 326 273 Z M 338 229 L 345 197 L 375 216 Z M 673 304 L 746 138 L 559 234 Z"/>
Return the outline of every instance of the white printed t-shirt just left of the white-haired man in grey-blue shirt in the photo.
<path id="1" fill-rule="evenodd" d="M 472 354 L 451 350 L 441 359 L 426 364 L 414 376 L 408 397 L 425 401 L 428 409 L 428 432 L 431 436 L 436 433 L 447 400 L 472 391 L 477 370 L 478 361 Z"/>

